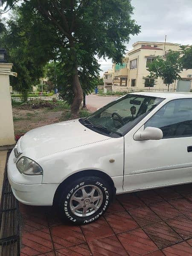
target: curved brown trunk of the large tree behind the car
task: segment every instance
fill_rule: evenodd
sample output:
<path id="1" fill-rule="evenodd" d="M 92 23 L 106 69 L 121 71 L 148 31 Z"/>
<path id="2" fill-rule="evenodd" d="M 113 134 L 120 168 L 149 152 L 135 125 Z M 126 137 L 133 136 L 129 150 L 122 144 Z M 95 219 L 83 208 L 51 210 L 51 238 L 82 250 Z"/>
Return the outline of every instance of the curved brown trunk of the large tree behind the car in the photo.
<path id="1" fill-rule="evenodd" d="M 79 116 L 79 108 L 80 108 L 81 102 L 83 100 L 83 90 L 81 88 L 77 69 L 76 69 L 76 73 L 73 75 L 72 86 L 73 86 L 73 93 L 74 93 L 75 97 L 74 97 L 72 105 L 71 105 L 71 113 L 74 116 L 78 117 Z"/>

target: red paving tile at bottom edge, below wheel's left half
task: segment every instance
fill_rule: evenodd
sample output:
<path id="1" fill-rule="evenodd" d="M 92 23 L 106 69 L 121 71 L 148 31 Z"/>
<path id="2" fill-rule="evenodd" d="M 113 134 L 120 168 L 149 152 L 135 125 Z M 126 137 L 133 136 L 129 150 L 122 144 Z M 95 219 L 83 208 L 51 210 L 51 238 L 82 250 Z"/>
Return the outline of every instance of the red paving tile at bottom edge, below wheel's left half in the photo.
<path id="1" fill-rule="evenodd" d="M 87 244 L 80 244 L 56 251 L 57 256 L 90 256 L 91 252 Z"/>

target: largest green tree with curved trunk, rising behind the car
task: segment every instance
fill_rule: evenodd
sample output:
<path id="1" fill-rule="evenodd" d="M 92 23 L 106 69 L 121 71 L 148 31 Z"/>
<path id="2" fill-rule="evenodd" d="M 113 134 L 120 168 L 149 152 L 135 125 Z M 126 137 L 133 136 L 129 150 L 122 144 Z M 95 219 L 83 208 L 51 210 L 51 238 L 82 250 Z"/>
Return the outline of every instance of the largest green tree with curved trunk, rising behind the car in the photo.
<path id="1" fill-rule="evenodd" d="M 6 3 L 7 7 L 13 6 L 15 1 L 1 0 L 1 3 Z M 83 98 L 80 81 L 84 79 L 79 78 L 79 70 L 83 69 L 87 56 L 88 63 L 96 63 L 96 55 L 120 62 L 130 35 L 140 32 L 140 26 L 131 19 L 130 0 L 23 0 L 19 8 L 25 20 L 44 21 L 43 28 L 51 27 L 56 35 L 52 41 L 54 46 L 51 48 L 50 41 L 47 44 L 64 60 L 65 86 L 73 91 L 71 110 L 75 115 L 79 113 Z M 34 24 L 32 27 L 36 32 L 33 42 L 41 41 L 43 47 L 42 28 L 34 28 Z M 50 59 L 47 55 L 47 61 Z M 98 65 L 94 70 L 98 72 Z"/>

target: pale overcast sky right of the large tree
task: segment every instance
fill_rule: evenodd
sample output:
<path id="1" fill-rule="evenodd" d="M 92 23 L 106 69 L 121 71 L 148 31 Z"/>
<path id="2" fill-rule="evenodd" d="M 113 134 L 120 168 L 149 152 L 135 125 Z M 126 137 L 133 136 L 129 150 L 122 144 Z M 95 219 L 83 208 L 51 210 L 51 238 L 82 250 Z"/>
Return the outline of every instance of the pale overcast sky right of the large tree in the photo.
<path id="1" fill-rule="evenodd" d="M 137 41 L 192 44 L 192 0 L 132 0 L 133 18 L 141 26 L 139 35 L 131 36 L 127 50 Z M 100 60 L 103 72 L 111 69 L 111 60 Z"/>

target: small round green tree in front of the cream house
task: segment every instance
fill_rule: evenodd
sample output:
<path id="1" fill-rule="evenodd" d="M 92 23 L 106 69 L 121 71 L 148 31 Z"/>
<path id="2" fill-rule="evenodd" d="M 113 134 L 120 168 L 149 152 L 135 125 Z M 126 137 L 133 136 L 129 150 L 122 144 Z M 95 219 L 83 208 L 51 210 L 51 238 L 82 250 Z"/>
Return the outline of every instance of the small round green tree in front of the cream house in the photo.
<path id="1" fill-rule="evenodd" d="M 148 71 L 150 78 L 163 79 L 164 83 L 168 86 L 176 79 L 180 79 L 180 72 L 182 71 L 182 63 L 180 61 L 180 52 L 169 50 L 166 57 L 158 56 L 149 65 Z"/>

